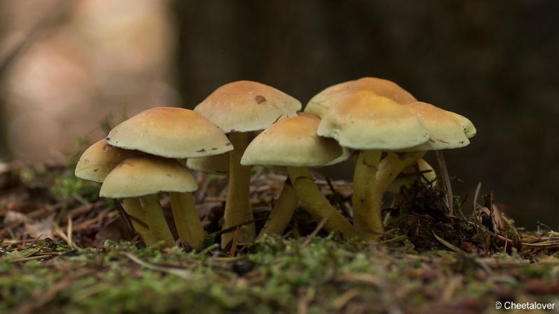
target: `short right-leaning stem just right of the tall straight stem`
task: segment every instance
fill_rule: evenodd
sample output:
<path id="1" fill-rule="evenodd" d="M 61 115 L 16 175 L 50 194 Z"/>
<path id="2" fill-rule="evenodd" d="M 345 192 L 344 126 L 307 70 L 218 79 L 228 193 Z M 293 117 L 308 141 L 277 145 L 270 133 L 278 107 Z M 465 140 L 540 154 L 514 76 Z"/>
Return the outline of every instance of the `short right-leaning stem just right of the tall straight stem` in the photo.
<path id="1" fill-rule="evenodd" d="M 299 199 L 288 177 L 285 180 L 282 193 L 279 194 L 270 217 L 257 239 L 261 239 L 265 234 L 283 234 L 285 227 L 287 227 L 289 220 L 293 216 L 293 212 L 295 212 L 298 202 Z"/>

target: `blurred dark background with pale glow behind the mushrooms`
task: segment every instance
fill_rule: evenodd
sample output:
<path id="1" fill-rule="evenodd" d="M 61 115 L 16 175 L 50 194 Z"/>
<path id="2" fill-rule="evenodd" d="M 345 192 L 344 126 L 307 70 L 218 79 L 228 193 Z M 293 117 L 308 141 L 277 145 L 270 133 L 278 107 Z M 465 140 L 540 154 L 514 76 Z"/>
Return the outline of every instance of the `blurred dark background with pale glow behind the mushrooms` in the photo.
<path id="1" fill-rule="evenodd" d="M 477 126 L 469 147 L 445 151 L 455 193 L 472 200 L 481 182 L 519 225 L 557 228 L 558 10 L 552 0 L 0 0 L 0 160 L 64 160 L 103 124 L 194 107 L 226 82 L 307 103 L 375 76 Z"/>

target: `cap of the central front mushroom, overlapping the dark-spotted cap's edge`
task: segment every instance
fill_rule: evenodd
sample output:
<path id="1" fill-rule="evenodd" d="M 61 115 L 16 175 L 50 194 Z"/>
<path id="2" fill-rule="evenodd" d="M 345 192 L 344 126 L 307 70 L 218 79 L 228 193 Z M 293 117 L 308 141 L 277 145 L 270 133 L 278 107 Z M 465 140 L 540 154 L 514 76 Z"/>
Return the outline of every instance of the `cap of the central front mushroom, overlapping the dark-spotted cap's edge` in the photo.
<path id="1" fill-rule="evenodd" d="M 241 165 L 318 167 L 333 160 L 342 162 L 342 147 L 317 135 L 319 122 L 307 114 L 277 121 L 252 140 Z"/>

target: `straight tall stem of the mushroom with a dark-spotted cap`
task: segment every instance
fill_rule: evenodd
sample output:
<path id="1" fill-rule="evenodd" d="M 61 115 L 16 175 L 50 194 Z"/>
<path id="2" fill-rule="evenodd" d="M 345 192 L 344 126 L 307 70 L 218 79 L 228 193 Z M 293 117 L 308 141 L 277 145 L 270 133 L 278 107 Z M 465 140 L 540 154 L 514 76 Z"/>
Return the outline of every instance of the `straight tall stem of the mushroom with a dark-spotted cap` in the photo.
<path id="1" fill-rule="evenodd" d="M 249 132 L 230 133 L 229 140 L 233 144 L 233 151 L 229 154 L 229 185 L 225 203 L 223 228 L 233 227 L 252 220 L 252 210 L 249 207 L 250 167 L 240 164 L 242 154 L 250 142 Z M 222 234 L 224 248 L 235 232 Z M 254 223 L 241 227 L 241 241 L 252 241 L 256 235 Z"/>

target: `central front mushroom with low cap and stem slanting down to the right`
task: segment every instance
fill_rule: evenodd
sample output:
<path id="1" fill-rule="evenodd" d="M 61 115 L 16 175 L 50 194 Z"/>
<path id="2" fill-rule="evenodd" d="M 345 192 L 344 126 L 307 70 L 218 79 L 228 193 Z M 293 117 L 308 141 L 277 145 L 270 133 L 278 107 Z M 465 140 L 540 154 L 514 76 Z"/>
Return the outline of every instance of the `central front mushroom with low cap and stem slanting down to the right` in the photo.
<path id="1" fill-rule="evenodd" d="M 289 179 L 303 207 L 317 221 L 326 218 L 325 229 L 342 234 L 344 238 L 356 236 L 354 227 L 328 202 L 308 167 L 319 167 L 333 160 L 342 161 L 344 150 L 335 141 L 317 136 L 320 119 L 308 114 L 277 121 L 260 133 L 249 144 L 242 156 L 242 165 L 285 166 Z M 286 227 L 295 207 L 274 209 L 273 216 L 264 227 L 275 232 Z"/>

